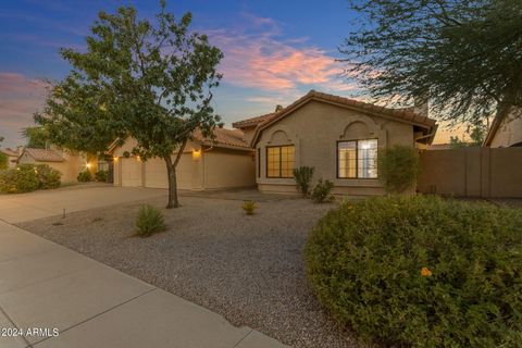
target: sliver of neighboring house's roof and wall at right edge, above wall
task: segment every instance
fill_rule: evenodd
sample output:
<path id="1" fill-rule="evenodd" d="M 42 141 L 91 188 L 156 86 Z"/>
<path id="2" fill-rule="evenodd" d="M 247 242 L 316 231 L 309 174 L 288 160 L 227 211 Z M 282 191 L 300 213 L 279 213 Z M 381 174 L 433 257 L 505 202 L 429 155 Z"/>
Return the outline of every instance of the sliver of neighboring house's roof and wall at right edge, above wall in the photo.
<path id="1" fill-rule="evenodd" d="M 495 119 L 483 145 L 492 148 L 522 147 L 521 112 L 513 112 L 500 122 Z"/>

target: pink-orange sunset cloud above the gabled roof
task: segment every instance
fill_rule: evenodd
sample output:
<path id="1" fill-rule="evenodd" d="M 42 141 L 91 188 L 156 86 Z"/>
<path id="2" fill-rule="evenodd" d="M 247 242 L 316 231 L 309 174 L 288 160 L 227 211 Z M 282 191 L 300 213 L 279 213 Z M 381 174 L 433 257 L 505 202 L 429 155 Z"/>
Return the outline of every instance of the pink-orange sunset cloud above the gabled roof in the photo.
<path id="1" fill-rule="evenodd" d="M 246 27 L 208 32 L 211 42 L 224 52 L 220 71 L 225 82 L 264 91 L 355 88 L 344 83 L 341 64 L 326 51 L 307 45 L 306 38 L 281 39 L 272 18 L 246 16 Z"/>

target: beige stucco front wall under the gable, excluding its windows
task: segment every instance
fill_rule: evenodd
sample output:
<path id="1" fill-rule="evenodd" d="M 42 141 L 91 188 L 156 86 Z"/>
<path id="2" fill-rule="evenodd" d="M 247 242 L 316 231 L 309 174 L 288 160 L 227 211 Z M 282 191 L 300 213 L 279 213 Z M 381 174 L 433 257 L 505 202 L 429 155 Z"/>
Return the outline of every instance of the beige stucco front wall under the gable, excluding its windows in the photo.
<path id="1" fill-rule="evenodd" d="M 324 102 L 309 102 L 262 132 L 256 144 L 257 153 L 261 154 L 258 159 L 261 175 L 256 173 L 258 187 L 263 191 L 296 192 L 294 178 L 266 177 L 266 147 L 294 145 L 296 167 L 313 166 L 313 179 L 334 182 L 334 194 L 382 195 L 384 189 L 378 178 L 337 178 L 337 141 L 370 138 L 376 138 L 380 148 L 414 146 L 413 126 L 409 124 Z"/>

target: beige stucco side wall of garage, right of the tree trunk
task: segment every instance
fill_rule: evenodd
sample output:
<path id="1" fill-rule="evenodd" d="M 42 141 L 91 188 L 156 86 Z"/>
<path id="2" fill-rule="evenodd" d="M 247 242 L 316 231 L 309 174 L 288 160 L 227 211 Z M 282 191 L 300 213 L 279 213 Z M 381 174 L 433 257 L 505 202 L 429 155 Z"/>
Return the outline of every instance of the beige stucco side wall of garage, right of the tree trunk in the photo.
<path id="1" fill-rule="evenodd" d="M 206 189 L 251 187 L 256 185 L 253 151 L 220 148 L 203 150 Z"/>

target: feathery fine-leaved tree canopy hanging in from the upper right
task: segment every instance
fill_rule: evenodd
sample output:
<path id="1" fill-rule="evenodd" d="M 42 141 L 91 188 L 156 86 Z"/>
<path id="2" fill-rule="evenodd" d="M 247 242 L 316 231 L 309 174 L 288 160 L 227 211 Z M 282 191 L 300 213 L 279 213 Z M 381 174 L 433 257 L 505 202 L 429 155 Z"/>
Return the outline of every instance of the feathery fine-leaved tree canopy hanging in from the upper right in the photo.
<path id="1" fill-rule="evenodd" d="M 373 97 L 430 97 L 442 119 L 475 123 L 522 105 L 520 0 L 351 0 L 362 22 L 340 48 Z"/>

